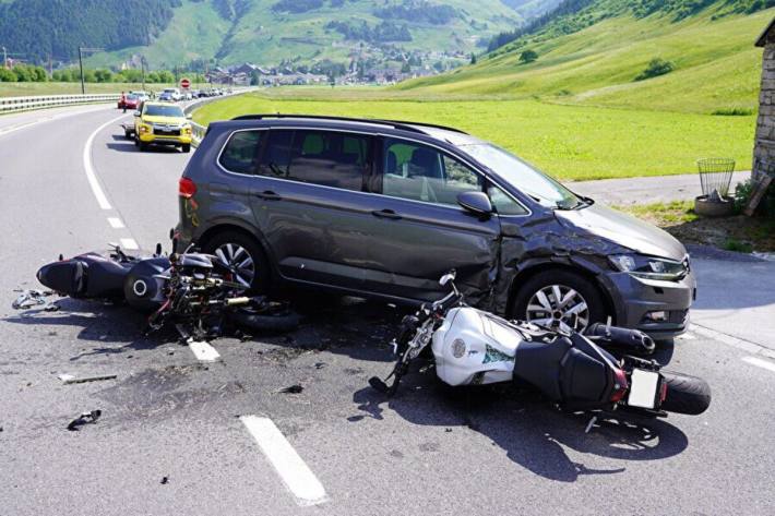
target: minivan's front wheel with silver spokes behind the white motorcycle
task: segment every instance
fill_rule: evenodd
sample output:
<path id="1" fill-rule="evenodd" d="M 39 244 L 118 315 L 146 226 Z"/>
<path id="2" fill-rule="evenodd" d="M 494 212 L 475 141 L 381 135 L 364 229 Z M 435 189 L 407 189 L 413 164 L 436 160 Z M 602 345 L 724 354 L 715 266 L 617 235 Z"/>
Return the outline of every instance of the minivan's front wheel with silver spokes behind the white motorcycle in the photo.
<path id="1" fill-rule="evenodd" d="M 511 319 L 541 326 L 559 326 L 583 332 L 592 323 L 604 322 L 603 296 L 588 279 L 569 271 L 536 274 L 520 288 Z"/>

